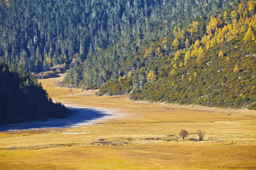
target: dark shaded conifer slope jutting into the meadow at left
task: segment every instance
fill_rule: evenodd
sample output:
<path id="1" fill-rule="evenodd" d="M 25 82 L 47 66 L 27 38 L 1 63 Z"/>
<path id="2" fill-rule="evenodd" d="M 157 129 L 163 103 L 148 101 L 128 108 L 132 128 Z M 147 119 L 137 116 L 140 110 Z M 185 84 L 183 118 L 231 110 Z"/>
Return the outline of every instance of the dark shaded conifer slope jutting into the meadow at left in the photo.
<path id="1" fill-rule="evenodd" d="M 0 62 L 0 124 L 65 118 L 67 108 L 53 103 L 35 77 Z"/>

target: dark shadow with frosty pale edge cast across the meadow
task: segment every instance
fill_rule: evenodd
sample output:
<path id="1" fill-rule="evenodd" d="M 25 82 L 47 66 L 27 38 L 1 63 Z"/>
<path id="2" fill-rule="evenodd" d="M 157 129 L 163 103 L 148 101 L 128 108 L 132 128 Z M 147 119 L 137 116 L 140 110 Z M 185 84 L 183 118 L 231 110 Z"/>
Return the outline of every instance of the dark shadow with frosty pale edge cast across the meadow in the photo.
<path id="1" fill-rule="evenodd" d="M 0 125 L 0 131 L 78 127 L 82 125 L 90 125 L 99 119 L 113 116 L 110 111 L 103 110 L 88 108 L 69 108 L 69 110 L 75 114 L 66 119 L 48 119 L 46 121 Z"/>

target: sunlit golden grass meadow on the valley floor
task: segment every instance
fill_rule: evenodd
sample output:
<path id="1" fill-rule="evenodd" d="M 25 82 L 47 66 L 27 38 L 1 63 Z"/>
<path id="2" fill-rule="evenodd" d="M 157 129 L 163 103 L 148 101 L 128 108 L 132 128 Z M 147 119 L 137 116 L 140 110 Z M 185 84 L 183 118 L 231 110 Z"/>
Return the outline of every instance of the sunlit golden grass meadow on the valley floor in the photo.
<path id="1" fill-rule="evenodd" d="M 81 89 L 70 94 L 54 84 L 62 78 L 40 80 L 54 101 L 121 116 L 82 127 L 0 132 L 0 170 L 256 169 L 256 111 L 136 102 Z M 187 139 L 198 138 L 198 129 L 206 136 L 183 141 L 181 129 L 191 133 Z"/>

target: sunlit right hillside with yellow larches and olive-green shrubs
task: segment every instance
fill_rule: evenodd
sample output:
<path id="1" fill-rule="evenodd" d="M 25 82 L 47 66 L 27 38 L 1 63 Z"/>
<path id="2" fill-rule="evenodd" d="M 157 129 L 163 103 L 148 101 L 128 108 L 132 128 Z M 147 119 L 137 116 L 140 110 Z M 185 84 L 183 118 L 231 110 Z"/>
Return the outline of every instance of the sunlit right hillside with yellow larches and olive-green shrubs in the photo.
<path id="1" fill-rule="evenodd" d="M 132 91 L 141 100 L 255 109 L 255 2 L 230 9 L 142 46 L 122 65 L 127 74 L 107 82 L 100 92 Z M 203 36 L 199 29 L 205 29 Z M 131 68 L 137 68 L 134 74 Z"/>

